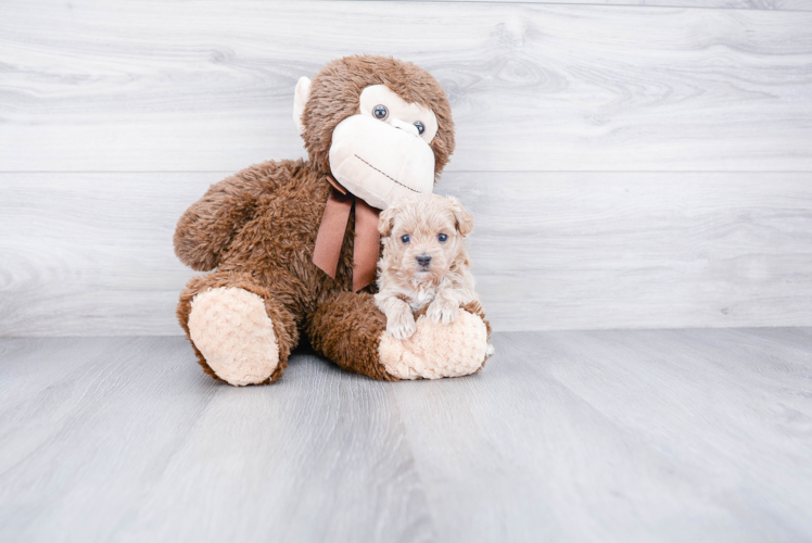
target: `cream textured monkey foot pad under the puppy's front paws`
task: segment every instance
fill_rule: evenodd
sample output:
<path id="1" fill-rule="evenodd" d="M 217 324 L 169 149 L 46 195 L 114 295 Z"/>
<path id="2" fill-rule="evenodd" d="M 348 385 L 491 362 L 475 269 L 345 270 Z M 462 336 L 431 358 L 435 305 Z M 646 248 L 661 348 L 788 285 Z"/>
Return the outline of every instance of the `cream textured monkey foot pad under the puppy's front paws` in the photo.
<path id="1" fill-rule="evenodd" d="M 383 332 L 378 345 L 383 367 L 401 379 L 440 379 L 473 374 L 491 352 L 485 323 L 462 310 L 449 325 L 421 316 L 411 338 L 396 340 Z"/>

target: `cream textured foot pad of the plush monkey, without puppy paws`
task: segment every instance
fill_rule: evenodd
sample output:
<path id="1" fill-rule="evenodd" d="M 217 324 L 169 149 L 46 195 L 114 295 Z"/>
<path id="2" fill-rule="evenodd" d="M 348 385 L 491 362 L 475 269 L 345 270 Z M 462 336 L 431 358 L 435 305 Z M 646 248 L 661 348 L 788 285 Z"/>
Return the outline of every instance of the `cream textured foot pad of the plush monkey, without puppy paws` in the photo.
<path id="1" fill-rule="evenodd" d="M 265 303 L 248 290 L 220 287 L 192 300 L 189 336 L 229 384 L 265 381 L 279 364 L 279 344 Z"/>

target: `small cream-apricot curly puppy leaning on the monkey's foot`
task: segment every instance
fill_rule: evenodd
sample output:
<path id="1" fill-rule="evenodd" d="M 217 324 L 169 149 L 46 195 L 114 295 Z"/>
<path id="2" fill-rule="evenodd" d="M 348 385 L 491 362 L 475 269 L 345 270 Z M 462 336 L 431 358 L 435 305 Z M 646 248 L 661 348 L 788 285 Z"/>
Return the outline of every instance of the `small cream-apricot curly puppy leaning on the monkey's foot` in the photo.
<path id="1" fill-rule="evenodd" d="M 460 305 L 477 300 L 464 243 L 473 217 L 456 198 L 437 194 L 406 197 L 380 215 L 383 256 L 378 263 L 375 301 L 386 315 L 386 332 L 410 338 L 415 312 L 448 324 Z"/>

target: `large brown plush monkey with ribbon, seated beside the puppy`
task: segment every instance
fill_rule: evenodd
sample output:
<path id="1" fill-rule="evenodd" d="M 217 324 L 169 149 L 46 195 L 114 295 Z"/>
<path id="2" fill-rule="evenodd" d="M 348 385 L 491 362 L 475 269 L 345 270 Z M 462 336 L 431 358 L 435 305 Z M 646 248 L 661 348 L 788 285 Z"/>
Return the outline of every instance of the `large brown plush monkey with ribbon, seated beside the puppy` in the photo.
<path id="1" fill-rule="evenodd" d="M 375 276 L 364 253 L 373 264 L 379 251 L 376 209 L 430 192 L 454 151 L 442 87 L 408 62 L 348 56 L 312 83 L 300 79 L 294 121 L 308 161 L 243 169 L 178 222 L 176 254 L 211 272 L 189 281 L 177 311 L 203 369 L 234 386 L 274 382 L 304 333 L 319 353 L 373 379 L 478 371 L 491 352 L 479 304 L 449 325 L 421 317 L 402 341 L 385 334 L 373 287 L 365 287 Z"/>

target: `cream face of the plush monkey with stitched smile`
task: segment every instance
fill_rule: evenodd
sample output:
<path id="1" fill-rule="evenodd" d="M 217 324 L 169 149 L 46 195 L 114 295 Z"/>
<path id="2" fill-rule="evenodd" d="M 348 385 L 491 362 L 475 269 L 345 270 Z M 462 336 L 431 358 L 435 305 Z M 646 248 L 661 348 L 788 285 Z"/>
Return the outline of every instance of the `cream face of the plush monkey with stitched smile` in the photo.
<path id="1" fill-rule="evenodd" d="M 364 89 L 359 102 L 359 112 L 332 134 L 330 169 L 335 179 L 380 210 L 398 198 L 431 192 L 434 112 L 406 102 L 384 85 Z"/>

